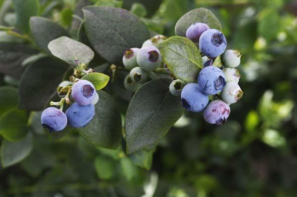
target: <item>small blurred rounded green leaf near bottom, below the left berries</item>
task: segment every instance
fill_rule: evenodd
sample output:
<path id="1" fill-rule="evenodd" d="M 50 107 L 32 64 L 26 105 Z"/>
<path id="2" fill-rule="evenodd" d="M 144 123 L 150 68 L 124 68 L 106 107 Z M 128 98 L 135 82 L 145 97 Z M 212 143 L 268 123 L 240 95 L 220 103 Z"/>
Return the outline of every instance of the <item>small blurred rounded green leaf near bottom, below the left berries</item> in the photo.
<path id="1" fill-rule="evenodd" d="M 114 174 L 114 162 L 107 157 L 97 157 L 94 161 L 95 169 L 99 179 L 111 179 Z"/>

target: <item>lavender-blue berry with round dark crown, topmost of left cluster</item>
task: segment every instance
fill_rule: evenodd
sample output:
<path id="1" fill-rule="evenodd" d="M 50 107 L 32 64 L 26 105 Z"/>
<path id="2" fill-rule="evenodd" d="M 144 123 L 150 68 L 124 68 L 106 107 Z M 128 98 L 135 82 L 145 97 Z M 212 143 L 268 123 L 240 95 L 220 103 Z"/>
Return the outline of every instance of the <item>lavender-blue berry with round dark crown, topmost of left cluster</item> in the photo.
<path id="1" fill-rule="evenodd" d="M 77 81 L 71 89 L 71 96 L 79 105 L 89 105 L 96 97 L 95 87 L 88 80 Z"/>

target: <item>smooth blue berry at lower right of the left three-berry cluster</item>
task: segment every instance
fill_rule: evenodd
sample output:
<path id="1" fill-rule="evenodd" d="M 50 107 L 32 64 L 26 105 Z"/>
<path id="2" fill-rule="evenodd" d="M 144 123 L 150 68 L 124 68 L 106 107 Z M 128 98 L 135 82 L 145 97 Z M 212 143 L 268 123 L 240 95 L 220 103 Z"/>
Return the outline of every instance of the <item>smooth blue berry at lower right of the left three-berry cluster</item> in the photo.
<path id="1" fill-rule="evenodd" d="M 86 126 L 95 116 L 95 107 L 93 104 L 79 105 L 73 103 L 66 111 L 68 123 L 75 128 Z"/>

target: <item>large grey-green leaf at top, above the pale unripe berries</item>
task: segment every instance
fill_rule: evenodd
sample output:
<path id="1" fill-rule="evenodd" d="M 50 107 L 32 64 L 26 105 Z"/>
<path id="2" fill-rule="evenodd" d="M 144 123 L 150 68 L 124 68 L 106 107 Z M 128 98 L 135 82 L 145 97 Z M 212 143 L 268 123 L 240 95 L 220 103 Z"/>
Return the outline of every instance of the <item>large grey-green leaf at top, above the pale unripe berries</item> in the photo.
<path id="1" fill-rule="evenodd" d="M 146 25 L 125 9 L 87 6 L 83 11 L 91 44 L 110 63 L 122 64 L 127 49 L 141 47 L 150 38 Z"/>

